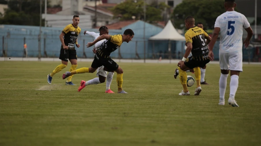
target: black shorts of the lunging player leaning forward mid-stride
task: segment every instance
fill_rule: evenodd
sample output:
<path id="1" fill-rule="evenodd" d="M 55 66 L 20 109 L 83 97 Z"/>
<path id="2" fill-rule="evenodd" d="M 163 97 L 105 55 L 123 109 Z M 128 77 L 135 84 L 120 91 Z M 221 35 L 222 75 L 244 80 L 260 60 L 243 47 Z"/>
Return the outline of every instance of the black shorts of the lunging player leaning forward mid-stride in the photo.
<path id="1" fill-rule="evenodd" d="M 99 54 L 95 54 L 94 60 L 92 62 L 92 68 L 98 68 L 100 66 L 104 66 L 107 68 L 109 71 L 114 71 L 119 68 L 119 65 L 114 62 L 111 57 L 101 57 Z"/>

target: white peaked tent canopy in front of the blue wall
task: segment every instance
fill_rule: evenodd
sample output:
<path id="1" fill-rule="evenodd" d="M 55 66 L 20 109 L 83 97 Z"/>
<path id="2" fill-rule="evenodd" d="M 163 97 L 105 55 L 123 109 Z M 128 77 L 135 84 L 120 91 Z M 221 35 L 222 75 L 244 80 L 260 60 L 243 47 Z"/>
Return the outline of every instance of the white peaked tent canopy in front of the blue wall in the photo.
<path id="1" fill-rule="evenodd" d="M 170 41 L 185 41 L 185 37 L 177 32 L 169 20 L 163 30 L 149 38 L 149 40 L 170 40 Z"/>

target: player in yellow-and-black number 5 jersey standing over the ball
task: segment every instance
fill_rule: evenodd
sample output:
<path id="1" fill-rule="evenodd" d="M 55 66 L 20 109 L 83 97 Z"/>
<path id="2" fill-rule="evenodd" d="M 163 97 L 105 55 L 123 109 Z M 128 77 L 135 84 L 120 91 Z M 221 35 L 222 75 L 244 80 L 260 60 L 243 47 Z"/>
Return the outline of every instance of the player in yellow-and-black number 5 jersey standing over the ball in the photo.
<path id="1" fill-rule="evenodd" d="M 189 69 L 194 69 L 197 81 L 197 88 L 194 95 L 199 95 L 202 91 L 200 87 L 200 67 L 203 68 L 208 62 L 210 62 L 208 59 L 209 50 L 205 39 L 207 39 L 207 42 L 209 43 L 211 37 L 208 36 L 202 28 L 195 26 L 195 19 L 193 16 L 188 16 L 185 19 L 185 26 L 188 30 L 185 33 L 187 49 L 183 59 L 178 62 L 180 82 L 183 86 L 183 90 L 179 93 L 179 95 L 190 95 L 187 88 L 186 73 Z M 192 53 L 192 56 L 188 57 L 190 52 Z"/>

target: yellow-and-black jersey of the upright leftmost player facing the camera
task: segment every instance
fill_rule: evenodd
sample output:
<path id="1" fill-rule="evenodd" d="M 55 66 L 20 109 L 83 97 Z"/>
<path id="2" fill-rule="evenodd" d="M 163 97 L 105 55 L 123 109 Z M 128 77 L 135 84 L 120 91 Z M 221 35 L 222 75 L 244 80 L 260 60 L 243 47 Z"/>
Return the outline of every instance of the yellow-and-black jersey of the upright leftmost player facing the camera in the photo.
<path id="1" fill-rule="evenodd" d="M 77 26 L 75 28 L 72 24 L 67 25 L 63 31 L 64 35 L 64 44 L 68 46 L 68 49 L 75 49 L 74 43 L 81 32 L 81 28 Z"/>

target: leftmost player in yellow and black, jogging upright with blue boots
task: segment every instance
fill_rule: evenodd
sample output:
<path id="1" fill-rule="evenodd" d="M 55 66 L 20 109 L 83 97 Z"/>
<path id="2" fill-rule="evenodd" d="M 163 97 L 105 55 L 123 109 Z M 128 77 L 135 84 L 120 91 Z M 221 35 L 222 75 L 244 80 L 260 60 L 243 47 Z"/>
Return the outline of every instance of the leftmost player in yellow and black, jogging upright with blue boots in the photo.
<path id="1" fill-rule="evenodd" d="M 60 41 L 61 41 L 61 51 L 60 57 L 61 64 L 57 66 L 51 74 L 47 75 L 47 82 L 51 84 L 53 75 L 57 72 L 61 71 L 62 69 L 66 68 L 68 64 L 68 60 L 71 62 L 72 66 L 70 71 L 74 71 L 77 67 L 77 55 L 74 44 L 76 47 L 80 47 L 77 41 L 77 37 L 81 32 L 81 28 L 78 26 L 80 22 L 79 15 L 74 15 L 72 19 L 72 24 L 67 25 L 60 34 Z M 75 85 L 71 82 L 72 76 L 68 77 L 67 81 L 65 82 L 66 85 Z"/>

